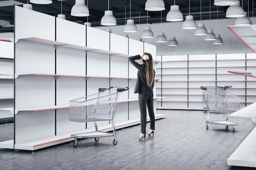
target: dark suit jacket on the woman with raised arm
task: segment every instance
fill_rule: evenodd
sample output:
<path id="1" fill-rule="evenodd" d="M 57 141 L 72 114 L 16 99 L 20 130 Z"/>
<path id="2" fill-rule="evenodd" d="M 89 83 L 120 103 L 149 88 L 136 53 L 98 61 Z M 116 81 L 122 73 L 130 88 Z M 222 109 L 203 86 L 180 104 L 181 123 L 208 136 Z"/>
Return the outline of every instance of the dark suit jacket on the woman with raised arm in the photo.
<path id="1" fill-rule="evenodd" d="M 152 86 L 150 87 L 147 86 L 145 64 L 139 64 L 135 62 L 135 60 L 139 60 L 139 59 L 141 59 L 140 55 L 129 57 L 130 63 L 132 63 L 132 65 L 134 65 L 138 69 L 137 82 L 135 85 L 134 93 L 153 96 L 154 82 Z"/>

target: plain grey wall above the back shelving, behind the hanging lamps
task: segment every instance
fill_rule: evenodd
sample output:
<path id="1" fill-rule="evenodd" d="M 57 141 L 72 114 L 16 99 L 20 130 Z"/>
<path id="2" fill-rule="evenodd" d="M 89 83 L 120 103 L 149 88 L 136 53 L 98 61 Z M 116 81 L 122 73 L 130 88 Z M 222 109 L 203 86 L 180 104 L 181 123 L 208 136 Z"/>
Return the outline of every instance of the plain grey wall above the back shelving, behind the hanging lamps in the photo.
<path id="1" fill-rule="evenodd" d="M 252 23 L 254 23 L 253 18 L 250 18 Z M 155 44 L 157 46 L 157 55 L 193 55 L 193 54 L 226 54 L 226 53 L 254 53 L 244 42 L 242 42 L 234 33 L 232 33 L 227 26 L 232 26 L 235 24 L 236 18 L 226 18 L 219 20 L 202 20 L 204 26 L 207 29 L 213 29 L 213 33 L 220 34 L 223 40 L 222 45 L 213 45 L 212 41 L 205 41 L 204 36 L 194 35 L 195 30 L 185 30 L 182 29 L 182 22 L 164 22 L 156 24 L 148 24 L 154 33 L 154 38 L 143 38 L 142 41 Z M 200 23 L 200 21 L 196 21 Z M 136 24 L 138 32 L 128 33 L 129 38 L 137 40 L 139 38 L 144 27 L 147 24 Z M 173 35 L 176 37 L 178 46 L 168 46 L 168 42 L 159 43 L 155 42 L 155 39 L 159 32 L 164 32 L 167 37 L 167 41 Z M 124 25 L 117 26 L 100 26 L 97 27 L 101 30 L 106 30 L 107 28 L 112 29 L 112 33 L 118 35 L 124 35 Z M 173 29 L 172 29 L 173 28 Z M 150 51 L 148 51 L 150 52 Z"/>

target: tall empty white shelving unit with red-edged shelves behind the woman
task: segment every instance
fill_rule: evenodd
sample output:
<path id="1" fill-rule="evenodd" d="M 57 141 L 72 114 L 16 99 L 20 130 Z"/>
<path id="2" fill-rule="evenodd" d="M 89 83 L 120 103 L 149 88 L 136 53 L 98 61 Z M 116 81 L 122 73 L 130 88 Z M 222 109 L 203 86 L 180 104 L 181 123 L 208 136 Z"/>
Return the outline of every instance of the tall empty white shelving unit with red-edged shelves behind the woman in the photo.
<path id="1" fill-rule="evenodd" d="M 15 73 L 9 74 L 15 79 L 15 105 L 1 108 L 14 113 L 15 134 L 0 142 L 0 148 L 37 150 L 72 141 L 71 134 L 94 131 L 93 122 L 69 121 L 69 101 L 98 88 L 129 86 L 119 97 L 115 125 L 140 123 L 133 93 L 137 70 L 127 57 L 150 51 L 156 65 L 161 61 L 155 46 L 18 6 L 15 14 L 16 37 L 10 38 Z M 166 117 L 156 114 L 156 102 L 155 117 Z M 112 128 L 108 121 L 97 125 L 99 130 Z"/>

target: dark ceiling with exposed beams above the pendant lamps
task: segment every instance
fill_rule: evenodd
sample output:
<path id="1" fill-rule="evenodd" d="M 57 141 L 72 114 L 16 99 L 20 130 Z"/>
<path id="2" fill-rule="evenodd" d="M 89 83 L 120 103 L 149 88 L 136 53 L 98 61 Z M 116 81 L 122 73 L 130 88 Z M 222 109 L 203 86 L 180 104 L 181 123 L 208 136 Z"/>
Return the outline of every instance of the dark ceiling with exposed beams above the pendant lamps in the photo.
<path id="1" fill-rule="evenodd" d="M 213 2 L 214 0 L 176 0 L 176 2 L 175 0 L 164 0 L 165 10 L 162 11 L 162 22 L 166 22 L 166 15 L 168 11 L 170 11 L 170 6 L 174 5 L 174 3 L 175 5 L 179 5 L 184 19 L 189 13 L 190 15 L 193 15 L 194 20 L 209 20 L 210 16 L 211 19 L 217 19 L 217 6 L 213 5 Z M 26 4 L 27 0 L 0 0 L 0 20 L 8 21 L 10 24 L 13 24 L 13 4 L 22 6 L 24 3 Z M 113 15 L 117 19 L 117 25 L 126 24 L 126 20 L 130 19 L 130 17 L 134 20 L 135 24 L 161 22 L 161 11 L 148 11 L 147 14 L 147 11 L 144 9 L 145 3 L 146 0 L 109 0 L 109 10 L 113 11 Z M 255 13 L 253 12 L 254 8 L 252 3 L 256 4 L 256 0 L 240 0 L 240 5 L 243 7 L 244 11 L 247 12 L 247 16 L 249 9 L 249 17 L 253 16 L 253 13 Z M 81 24 L 84 22 L 91 22 L 92 26 L 101 26 L 100 22 L 104 15 L 104 11 L 108 10 L 108 0 L 85 0 L 85 4 L 90 11 L 90 16 L 88 17 L 71 16 L 70 12 L 74 4 L 75 0 L 62 1 L 62 14 L 66 15 L 66 20 Z M 209 8 L 210 4 L 211 10 Z M 59 0 L 52 0 L 52 4 L 32 5 L 34 11 L 48 15 L 57 16 L 61 13 L 61 1 Z M 228 6 L 218 7 L 219 19 L 225 18 L 227 8 Z M 0 26 L 0 33 L 11 32 L 12 30 L 13 28 L 11 26 Z"/>

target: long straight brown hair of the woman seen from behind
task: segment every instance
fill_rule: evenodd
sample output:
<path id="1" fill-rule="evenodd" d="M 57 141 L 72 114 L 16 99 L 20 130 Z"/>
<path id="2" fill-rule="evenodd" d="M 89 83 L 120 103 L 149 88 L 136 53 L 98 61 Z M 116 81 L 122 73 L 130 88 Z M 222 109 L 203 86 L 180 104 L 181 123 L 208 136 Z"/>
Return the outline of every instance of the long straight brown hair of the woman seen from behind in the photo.
<path id="1" fill-rule="evenodd" d="M 148 55 L 149 60 L 142 60 L 143 64 L 146 65 L 146 83 L 148 86 L 152 86 L 155 78 L 155 70 L 153 67 L 153 57 L 150 53 L 144 53 L 143 55 Z"/>

